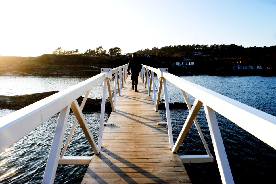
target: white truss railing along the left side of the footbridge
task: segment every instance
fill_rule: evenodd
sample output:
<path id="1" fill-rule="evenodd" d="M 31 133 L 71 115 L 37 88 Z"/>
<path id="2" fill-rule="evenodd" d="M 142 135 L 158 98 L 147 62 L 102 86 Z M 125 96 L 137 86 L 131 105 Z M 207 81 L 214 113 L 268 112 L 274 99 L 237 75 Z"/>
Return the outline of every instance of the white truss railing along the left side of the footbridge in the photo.
<path id="1" fill-rule="evenodd" d="M 49 157 L 47 160 L 42 183 L 53 183 L 58 164 L 89 164 L 90 157 L 64 156 L 68 147 L 70 138 L 74 132 L 77 122 L 79 122 L 88 142 L 90 143 L 95 154 L 99 154 L 101 150 L 101 141 L 104 129 L 104 111 L 106 103 L 106 89 L 110 98 L 112 111 L 116 109 L 116 92 L 119 96 L 121 89 L 127 78 L 127 65 L 123 65 L 114 69 L 101 69 L 101 73 L 93 76 L 86 81 L 78 83 L 72 87 L 64 89 L 54 95 L 42 99 L 34 104 L 22 108 L 16 112 L 8 114 L 0 118 L 0 152 L 3 152 L 9 146 L 13 145 L 19 139 L 36 129 L 43 122 L 60 112 Z M 114 76 L 114 90 L 110 88 L 110 79 Z M 82 109 L 87 100 L 88 94 L 93 87 L 103 82 L 103 95 L 101 104 L 101 115 L 99 125 L 98 144 L 88 128 L 87 122 L 82 114 Z M 116 89 L 118 88 L 118 90 Z M 113 94 L 112 94 L 113 91 Z M 85 94 L 81 106 L 78 105 L 77 98 Z M 65 134 L 65 127 L 68 120 L 70 108 L 74 112 L 76 119 L 72 129 L 68 135 L 62 153 L 60 154 L 62 141 Z"/>

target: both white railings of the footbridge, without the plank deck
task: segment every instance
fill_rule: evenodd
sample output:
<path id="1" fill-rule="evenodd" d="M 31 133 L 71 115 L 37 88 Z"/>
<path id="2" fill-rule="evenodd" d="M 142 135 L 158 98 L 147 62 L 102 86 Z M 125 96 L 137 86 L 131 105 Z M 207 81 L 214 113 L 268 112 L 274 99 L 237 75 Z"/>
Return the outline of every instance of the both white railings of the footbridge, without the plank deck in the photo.
<path id="1" fill-rule="evenodd" d="M 154 83 L 154 73 L 156 73 L 157 77 L 160 79 L 158 90 Z M 225 153 L 225 148 L 223 145 L 221 134 L 218 128 L 215 111 L 224 116 L 225 118 L 231 120 L 239 127 L 248 131 L 258 139 L 264 141 L 274 149 L 276 149 L 275 116 L 272 116 L 250 106 L 242 104 L 238 101 L 225 97 L 219 93 L 216 93 L 194 83 L 186 81 L 182 78 L 174 76 L 173 74 L 168 73 L 167 68 L 156 69 L 150 66 L 143 65 L 140 74 L 143 82 L 145 83 L 145 87 L 147 87 L 148 89 L 148 95 L 151 95 L 151 92 L 153 94 L 153 104 L 155 111 L 158 110 L 158 102 L 160 100 L 161 89 L 163 87 L 167 119 L 167 122 L 165 122 L 164 124 L 167 124 L 169 144 L 172 152 L 177 152 L 192 122 L 194 122 L 196 125 L 196 128 L 202 139 L 207 154 L 180 156 L 183 163 L 213 162 L 213 156 L 210 153 L 210 150 L 206 144 L 204 136 L 202 135 L 198 122 L 195 118 L 196 114 L 198 113 L 202 105 L 204 106 L 206 119 L 208 122 L 208 127 L 210 130 L 212 142 L 214 145 L 214 151 L 218 162 L 218 168 L 223 183 L 233 183 L 233 177 L 229 167 L 227 155 Z M 114 88 L 112 87 L 112 90 L 110 87 L 110 79 L 113 76 Z M 91 157 L 64 156 L 70 138 L 74 132 L 76 123 L 79 122 L 95 154 L 99 154 L 99 151 L 101 149 L 101 141 L 104 127 L 106 90 L 108 89 L 112 111 L 115 111 L 116 93 L 118 91 L 118 95 L 121 95 L 121 89 L 124 83 L 126 82 L 126 78 L 127 65 L 123 65 L 114 69 L 101 69 L 100 74 L 92 78 L 89 78 L 86 81 L 83 81 L 67 89 L 64 89 L 54 95 L 42 99 L 34 104 L 31 104 L 30 106 L 22 108 L 7 116 L 1 117 L 0 152 L 7 149 L 9 146 L 11 146 L 19 139 L 27 135 L 29 132 L 37 128 L 40 124 L 54 116 L 56 113 L 60 112 L 42 183 L 53 183 L 58 164 L 89 164 Z M 172 84 L 179 87 L 190 111 L 183 125 L 183 128 L 179 134 L 179 137 L 177 138 L 175 143 L 173 141 L 166 80 L 170 81 Z M 85 105 L 85 101 L 88 97 L 90 90 L 102 81 L 104 82 L 99 126 L 99 138 L 98 144 L 96 144 L 81 111 Z M 158 92 L 157 96 L 156 91 Z M 192 107 L 188 101 L 186 93 L 190 94 L 195 98 Z M 81 106 L 79 106 L 76 99 L 82 96 L 83 94 L 85 94 L 85 97 L 83 98 Z M 60 154 L 62 140 L 65 134 L 65 127 L 67 124 L 70 108 L 74 112 L 76 120 L 64 145 L 64 149 Z"/>

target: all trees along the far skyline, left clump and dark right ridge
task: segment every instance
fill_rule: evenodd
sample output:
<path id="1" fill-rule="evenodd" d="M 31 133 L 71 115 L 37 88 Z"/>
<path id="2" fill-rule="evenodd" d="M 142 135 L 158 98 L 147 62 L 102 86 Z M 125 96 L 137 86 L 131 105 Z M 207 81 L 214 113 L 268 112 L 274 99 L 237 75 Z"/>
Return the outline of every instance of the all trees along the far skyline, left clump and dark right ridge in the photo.
<path id="1" fill-rule="evenodd" d="M 119 47 L 110 48 L 108 53 L 102 46 L 96 47 L 96 49 L 87 49 L 85 53 L 79 53 L 78 49 L 72 51 L 62 50 L 58 47 L 53 51 L 53 54 L 87 54 L 87 55 L 121 55 Z M 221 57 L 235 57 L 235 58 L 252 58 L 252 57 L 263 57 L 268 55 L 276 54 L 276 45 L 270 47 L 243 47 L 242 45 L 236 44 L 213 44 L 213 45 L 170 45 L 165 47 L 153 47 L 152 49 L 141 49 L 135 51 L 137 54 L 156 55 L 162 57 L 191 57 L 194 53 L 201 52 L 206 55 L 214 55 Z M 132 53 L 128 53 L 131 55 Z"/>

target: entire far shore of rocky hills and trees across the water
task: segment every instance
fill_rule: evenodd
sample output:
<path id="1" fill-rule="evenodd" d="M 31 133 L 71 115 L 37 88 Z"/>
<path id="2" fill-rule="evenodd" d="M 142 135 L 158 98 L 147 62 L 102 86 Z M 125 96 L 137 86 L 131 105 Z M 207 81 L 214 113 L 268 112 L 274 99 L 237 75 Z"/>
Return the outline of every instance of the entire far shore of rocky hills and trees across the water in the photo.
<path id="1" fill-rule="evenodd" d="M 95 76 L 101 68 L 127 64 L 131 53 L 121 55 L 114 47 L 87 49 L 85 53 L 65 51 L 60 47 L 54 54 L 38 57 L 0 56 L 0 76 Z M 177 76 L 275 76 L 276 46 L 242 47 L 230 45 L 178 45 L 136 51 L 141 62 L 154 68 L 168 68 Z M 112 55 L 116 54 L 116 55 Z M 194 62 L 177 66 L 176 62 Z M 258 70 L 234 70 L 234 66 L 262 66 Z"/>

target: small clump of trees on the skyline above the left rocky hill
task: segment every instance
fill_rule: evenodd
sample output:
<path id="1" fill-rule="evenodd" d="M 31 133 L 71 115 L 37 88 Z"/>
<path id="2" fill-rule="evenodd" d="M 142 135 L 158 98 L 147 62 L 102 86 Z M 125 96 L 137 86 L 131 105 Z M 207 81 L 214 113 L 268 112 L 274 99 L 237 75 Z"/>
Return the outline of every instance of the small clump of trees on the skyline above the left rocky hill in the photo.
<path id="1" fill-rule="evenodd" d="M 108 53 L 106 53 L 106 50 L 102 46 L 96 47 L 95 50 L 87 49 L 85 53 L 79 53 L 78 49 L 72 50 L 72 51 L 66 51 L 63 50 L 61 47 L 58 47 L 53 51 L 53 54 L 58 54 L 58 55 L 69 55 L 69 54 L 87 54 L 87 55 L 97 55 L 100 57 L 101 55 L 121 55 L 122 49 L 119 47 L 113 47 L 110 48 Z"/>

